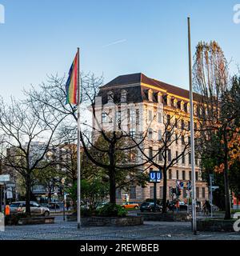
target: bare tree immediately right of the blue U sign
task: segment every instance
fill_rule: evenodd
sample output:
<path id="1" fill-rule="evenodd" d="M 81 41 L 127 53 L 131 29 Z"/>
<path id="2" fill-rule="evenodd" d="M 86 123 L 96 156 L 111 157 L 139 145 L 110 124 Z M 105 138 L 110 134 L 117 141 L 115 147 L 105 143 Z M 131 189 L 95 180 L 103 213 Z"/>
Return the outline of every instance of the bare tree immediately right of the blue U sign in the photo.
<path id="1" fill-rule="evenodd" d="M 184 116 L 177 110 L 164 112 L 162 119 L 162 129 L 154 131 L 149 128 L 147 139 L 137 145 L 142 160 L 162 170 L 162 213 L 166 213 L 167 172 L 180 160 L 185 161 L 186 155 L 190 154 L 190 128 L 188 129 Z M 157 141 L 153 139 L 154 132 L 157 133 Z M 178 145 L 181 145 L 181 151 L 173 152 Z"/>

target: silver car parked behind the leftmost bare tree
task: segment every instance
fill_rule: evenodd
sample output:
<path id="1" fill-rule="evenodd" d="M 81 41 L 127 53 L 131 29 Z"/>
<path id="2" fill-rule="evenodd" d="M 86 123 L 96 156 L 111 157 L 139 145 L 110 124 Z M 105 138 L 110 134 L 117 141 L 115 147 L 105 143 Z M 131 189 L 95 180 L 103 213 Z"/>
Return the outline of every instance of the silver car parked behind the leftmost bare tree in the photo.
<path id="1" fill-rule="evenodd" d="M 50 210 L 40 206 L 38 202 L 30 201 L 30 211 L 33 215 L 49 216 Z M 10 204 L 10 214 L 24 214 L 26 212 L 26 202 L 12 202 Z"/>

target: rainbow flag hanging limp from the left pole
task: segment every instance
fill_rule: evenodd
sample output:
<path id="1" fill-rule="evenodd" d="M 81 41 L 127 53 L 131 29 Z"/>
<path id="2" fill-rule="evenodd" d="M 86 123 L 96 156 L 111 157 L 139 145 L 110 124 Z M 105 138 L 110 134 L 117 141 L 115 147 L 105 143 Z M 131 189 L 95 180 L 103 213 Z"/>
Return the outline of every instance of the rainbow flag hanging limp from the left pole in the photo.
<path id="1" fill-rule="evenodd" d="M 78 53 L 69 70 L 69 77 L 66 81 L 66 104 L 78 104 Z"/>

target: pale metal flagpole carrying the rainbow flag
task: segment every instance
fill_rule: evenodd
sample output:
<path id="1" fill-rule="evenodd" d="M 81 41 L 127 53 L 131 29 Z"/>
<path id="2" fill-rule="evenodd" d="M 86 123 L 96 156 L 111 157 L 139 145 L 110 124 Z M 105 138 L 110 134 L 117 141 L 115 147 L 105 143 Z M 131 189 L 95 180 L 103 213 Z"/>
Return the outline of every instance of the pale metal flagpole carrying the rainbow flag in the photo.
<path id="1" fill-rule="evenodd" d="M 81 228 L 80 54 L 78 48 L 78 229 Z"/>

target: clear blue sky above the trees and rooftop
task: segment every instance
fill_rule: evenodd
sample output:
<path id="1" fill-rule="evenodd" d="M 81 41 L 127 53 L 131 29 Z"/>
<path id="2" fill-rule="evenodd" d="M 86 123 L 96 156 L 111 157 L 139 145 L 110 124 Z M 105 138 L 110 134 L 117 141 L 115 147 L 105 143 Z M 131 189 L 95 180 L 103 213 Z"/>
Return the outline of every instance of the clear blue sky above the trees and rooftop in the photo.
<path id="1" fill-rule="evenodd" d="M 23 87 L 46 74 L 67 73 L 81 48 L 81 70 L 103 74 L 142 72 L 188 87 L 186 18 L 192 50 L 199 41 L 216 40 L 240 63 L 240 24 L 233 22 L 240 0 L 0 0 L 0 94 L 22 97 Z M 113 42 L 118 42 L 112 44 Z"/>

